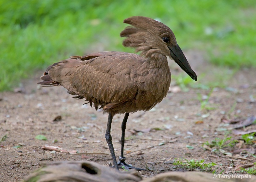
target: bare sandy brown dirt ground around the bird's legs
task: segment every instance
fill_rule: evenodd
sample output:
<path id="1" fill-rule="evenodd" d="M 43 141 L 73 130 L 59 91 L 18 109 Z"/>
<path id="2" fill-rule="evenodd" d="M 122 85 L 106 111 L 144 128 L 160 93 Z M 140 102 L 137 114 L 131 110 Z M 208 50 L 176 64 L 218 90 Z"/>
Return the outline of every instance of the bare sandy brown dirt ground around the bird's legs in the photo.
<path id="1" fill-rule="evenodd" d="M 185 55 L 197 74 L 206 73 L 209 76 L 204 79 L 211 79 L 212 65 L 204 62 L 202 56 L 193 51 L 188 51 Z M 180 72 L 176 68 L 175 64 L 171 64 L 172 75 Z M 109 155 L 81 154 L 109 154 L 105 141 L 108 115 L 103 115 L 101 111 L 96 111 L 89 105 L 83 106 L 81 100 L 71 98 L 62 87 L 40 88 L 36 83 L 40 81 L 41 73 L 39 71 L 35 78 L 24 80 L 23 87 L 16 92 L 0 93 L 0 137 L 3 137 L 0 142 L 1 182 L 20 181 L 38 169 L 40 164 L 52 161 L 91 160 L 106 166 L 109 162 L 112 163 Z M 224 138 L 227 133 L 225 130 L 229 129 L 230 125 L 223 123 L 221 118 L 256 116 L 255 78 L 255 69 L 237 71 L 228 81 L 227 88 L 213 90 L 209 98 L 209 105 L 215 107 L 213 110 L 201 111 L 201 102 L 198 99 L 198 95 L 205 99 L 210 90 L 189 88 L 188 92 L 169 92 L 167 97 L 149 112 L 130 114 L 124 146 L 125 152 L 128 153 L 126 162 L 140 168 L 146 168 L 147 165 L 151 171 L 141 171 L 143 177 L 152 177 L 166 171 L 185 171 L 173 168 L 175 166 L 172 161 L 175 158 L 205 159 L 205 163 L 217 164 L 213 167 L 216 173 L 223 171 L 226 174 L 234 173 L 238 164 L 254 163 L 256 160 L 252 156 L 246 159 L 241 159 L 243 156 L 235 158 L 205 150 L 202 144 L 217 137 Z M 172 83 L 171 87 L 174 86 L 175 83 Z M 232 108 L 235 103 L 236 106 Z M 53 121 L 57 116 L 62 119 Z M 123 117 L 124 114 L 116 115 L 112 123 L 111 135 L 116 156 L 120 155 Z M 237 130 L 253 129 L 256 129 L 255 125 Z M 47 140 L 38 140 L 35 138 L 37 135 L 44 135 Z M 232 131 L 228 136 L 241 139 L 241 136 L 234 135 Z M 46 145 L 60 147 L 65 151 L 52 152 L 41 149 Z M 188 145 L 194 149 L 189 149 Z M 250 147 L 252 146 L 237 144 L 235 147 L 224 149 L 233 154 L 234 150 Z M 74 152 L 80 154 L 72 154 Z"/>

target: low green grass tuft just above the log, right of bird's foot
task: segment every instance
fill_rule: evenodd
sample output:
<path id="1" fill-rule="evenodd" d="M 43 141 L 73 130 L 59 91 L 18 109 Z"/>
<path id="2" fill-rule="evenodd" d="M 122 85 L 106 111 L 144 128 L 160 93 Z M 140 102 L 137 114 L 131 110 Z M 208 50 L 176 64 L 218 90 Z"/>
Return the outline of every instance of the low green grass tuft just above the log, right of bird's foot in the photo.
<path id="1" fill-rule="evenodd" d="M 176 168 L 183 168 L 183 169 L 201 169 L 203 171 L 212 171 L 212 167 L 215 166 L 215 163 L 204 163 L 204 159 L 200 161 L 195 161 L 194 159 L 188 160 L 184 159 L 186 162 L 182 162 L 180 160 L 174 159 L 173 165 L 177 165 Z"/>

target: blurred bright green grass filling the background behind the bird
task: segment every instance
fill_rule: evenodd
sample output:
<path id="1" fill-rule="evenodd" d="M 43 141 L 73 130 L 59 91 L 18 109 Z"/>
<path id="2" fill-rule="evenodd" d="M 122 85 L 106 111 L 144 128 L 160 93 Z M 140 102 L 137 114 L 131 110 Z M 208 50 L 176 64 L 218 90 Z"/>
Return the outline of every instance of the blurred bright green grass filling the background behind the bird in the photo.
<path id="1" fill-rule="evenodd" d="M 70 55 L 132 51 L 119 38 L 130 16 L 158 18 L 183 50 L 217 65 L 256 67 L 255 8 L 254 0 L 2 0 L 0 91 Z"/>

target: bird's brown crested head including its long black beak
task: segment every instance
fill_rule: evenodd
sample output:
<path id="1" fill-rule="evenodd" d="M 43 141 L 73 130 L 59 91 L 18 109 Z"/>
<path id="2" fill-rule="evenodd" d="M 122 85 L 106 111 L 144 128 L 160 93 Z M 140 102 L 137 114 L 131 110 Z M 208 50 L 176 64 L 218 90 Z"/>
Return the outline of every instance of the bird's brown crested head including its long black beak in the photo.
<path id="1" fill-rule="evenodd" d="M 196 73 L 191 69 L 185 55 L 177 44 L 172 30 L 161 22 L 147 17 L 130 17 L 124 23 L 132 26 L 126 27 L 121 37 L 124 47 L 134 47 L 141 56 L 157 59 L 164 55 L 171 57 L 181 69 L 183 69 L 193 80 L 197 80 Z"/>

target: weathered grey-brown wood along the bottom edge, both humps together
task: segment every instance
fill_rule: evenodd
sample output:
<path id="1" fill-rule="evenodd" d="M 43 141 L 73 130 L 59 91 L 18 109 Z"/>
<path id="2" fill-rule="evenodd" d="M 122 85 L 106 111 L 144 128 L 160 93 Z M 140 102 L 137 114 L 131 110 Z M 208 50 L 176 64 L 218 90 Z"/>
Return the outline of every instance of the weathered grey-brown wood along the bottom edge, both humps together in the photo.
<path id="1" fill-rule="evenodd" d="M 42 164 L 22 182 L 255 182 L 248 174 L 219 175 L 208 172 L 165 172 L 143 179 L 135 171 L 119 172 L 89 161 L 61 161 Z"/>

